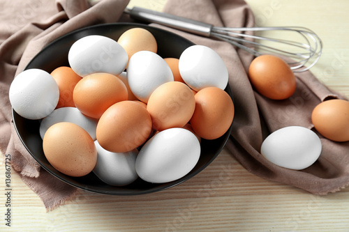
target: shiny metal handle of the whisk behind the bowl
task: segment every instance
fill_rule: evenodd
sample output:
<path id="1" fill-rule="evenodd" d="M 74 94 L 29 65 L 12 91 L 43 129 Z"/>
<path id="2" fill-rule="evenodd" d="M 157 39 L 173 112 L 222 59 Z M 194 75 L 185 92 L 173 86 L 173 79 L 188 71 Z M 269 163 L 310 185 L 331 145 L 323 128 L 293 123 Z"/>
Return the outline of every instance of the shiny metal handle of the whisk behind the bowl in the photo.
<path id="1" fill-rule="evenodd" d="M 212 25 L 205 22 L 189 20 L 185 17 L 170 15 L 154 10 L 148 10 L 140 7 L 133 7 L 124 11 L 128 13 L 135 20 L 142 20 L 145 22 L 154 22 L 163 26 L 170 26 L 174 29 L 195 33 L 199 36 L 209 37 L 211 34 Z"/>

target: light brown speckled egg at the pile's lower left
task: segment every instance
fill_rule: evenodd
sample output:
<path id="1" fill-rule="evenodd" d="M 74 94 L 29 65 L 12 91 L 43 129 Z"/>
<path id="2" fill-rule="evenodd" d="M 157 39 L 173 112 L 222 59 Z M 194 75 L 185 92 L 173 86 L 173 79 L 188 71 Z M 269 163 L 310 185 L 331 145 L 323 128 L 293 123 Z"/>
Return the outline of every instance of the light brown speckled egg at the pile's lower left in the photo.
<path id="1" fill-rule="evenodd" d="M 68 176 L 85 176 L 97 162 L 94 140 L 74 123 L 52 125 L 43 137 L 43 151 L 47 161 Z"/>

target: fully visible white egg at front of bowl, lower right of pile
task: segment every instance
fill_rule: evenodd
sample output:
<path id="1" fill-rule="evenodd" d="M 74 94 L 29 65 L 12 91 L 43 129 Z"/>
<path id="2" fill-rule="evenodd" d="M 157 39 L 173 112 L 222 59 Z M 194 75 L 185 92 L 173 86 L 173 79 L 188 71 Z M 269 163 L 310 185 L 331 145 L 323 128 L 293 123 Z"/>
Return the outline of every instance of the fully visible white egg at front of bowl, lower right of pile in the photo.
<path id="1" fill-rule="evenodd" d="M 142 180 L 167 183 L 189 173 L 199 160 L 200 150 L 198 138 L 189 130 L 163 130 L 140 149 L 135 169 Z"/>

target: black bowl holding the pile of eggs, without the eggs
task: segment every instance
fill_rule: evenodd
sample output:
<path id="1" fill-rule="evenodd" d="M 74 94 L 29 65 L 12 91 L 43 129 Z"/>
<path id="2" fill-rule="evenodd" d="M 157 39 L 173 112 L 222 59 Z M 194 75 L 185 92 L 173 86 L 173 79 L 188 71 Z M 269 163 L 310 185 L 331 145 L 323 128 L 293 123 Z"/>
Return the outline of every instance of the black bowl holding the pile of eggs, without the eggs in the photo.
<path id="1" fill-rule="evenodd" d="M 117 40 L 121 33 L 124 31 L 134 28 L 141 27 L 150 31 L 156 41 L 158 42 L 158 54 L 163 57 L 174 57 L 179 58 L 181 53 L 187 47 L 194 45 L 193 42 L 182 38 L 174 33 L 158 29 L 155 27 L 147 26 L 144 24 L 134 24 L 134 23 L 113 23 L 113 24 L 100 24 L 96 26 L 89 26 L 77 31 L 58 38 L 51 42 L 47 47 L 40 51 L 34 59 L 32 59 L 25 70 L 30 68 L 40 68 L 47 72 L 52 72 L 55 68 L 59 66 L 68 66 L 68 51 L 73 43 L 89 35 L 101 35 L 107 36 L 114 40 Z M 232 97 L 229 85 L 225 88 L 225 91 Z M 27 148 L 29 153 L 35 158 L 35 160 L 49 173 L 56 176 L 60 180 L 79 187 L 83 190 L 88 190 L 91 192 L 98 192 L 101 194 L 112 194 L 112 195 L 136 195 L 136 194 L 147 194 L 151 192 L 157 192 L 160 190 L 168 189 L 179 183 L 192 178 L 196 174 L 200 173 L 207 165 L 209 165 L 225 146 L 228 141 L 232 126 L 230 129 L 220 138 L 214 140 L 202 139 L 201 143 L 201 155 L 198 164 L 183 178 L 179 180 L 174 180 L 170 183 L 163 184 L 153 184 L 147 183 L 144 180 L 138 178 L 135 182 L 130 185 L 123 187 L 115 187 L 103 183 L 93 172 L 89 173 L 87 176 L 83 177 L 71 177 L 60 173 L 47 161 L 43 153 L 43 140 L 39 134 L 39 120 L 29 120 L 27 118 L 22 118 L 14 110 L 13 112 L 13 122 L 17 130 L 17 134 L 20 137 L 22 143 Z"/>

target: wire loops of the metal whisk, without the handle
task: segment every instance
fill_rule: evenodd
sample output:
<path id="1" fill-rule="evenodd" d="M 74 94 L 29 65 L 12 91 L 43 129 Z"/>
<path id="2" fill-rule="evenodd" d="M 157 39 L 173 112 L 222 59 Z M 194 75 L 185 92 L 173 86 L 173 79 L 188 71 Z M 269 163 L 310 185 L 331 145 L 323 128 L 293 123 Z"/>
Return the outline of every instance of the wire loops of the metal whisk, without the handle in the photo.
<path id="1" fill-rule="evenodd" d="M 251 32 L 263 31 L 286 31 L 297 33 L 302 38 L 302 42 L 296 40 L 285 40 L 282 38 L 272 38 L 258 36 Z M 288 61 L 290 68 L 294 72 L 304 72 L 313 67 L 320 59 L 322 52 L 322 42 L 320 38 L 304 27 L 243 27 L 228 28 L 216 27 L 211 29 L 211 37 L 230 42 L 232 45 L 244 49 L 255 56 L 262 54 L 275 54 L 283 56 Z M 272 45 L 270 45 L 272 44 Z M 305 65 L 307 66 L 305 67 Z"/>

